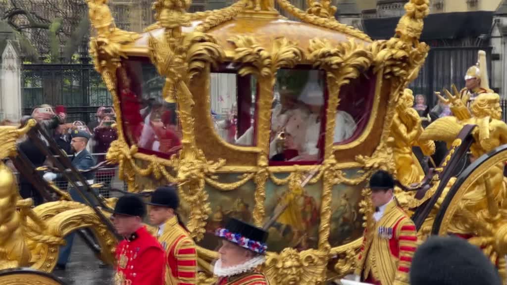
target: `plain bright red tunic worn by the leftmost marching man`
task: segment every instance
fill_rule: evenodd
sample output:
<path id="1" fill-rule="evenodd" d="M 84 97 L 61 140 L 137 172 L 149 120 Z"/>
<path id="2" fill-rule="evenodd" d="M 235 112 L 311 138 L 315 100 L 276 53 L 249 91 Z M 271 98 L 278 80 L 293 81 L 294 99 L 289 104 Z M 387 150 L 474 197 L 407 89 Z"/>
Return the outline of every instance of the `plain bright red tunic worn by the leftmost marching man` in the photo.
<path id="1" fill-rule="evenodd" d="M 163 285 L 164 251 L 145 227 L 116 247 L 115 285 Z"/>

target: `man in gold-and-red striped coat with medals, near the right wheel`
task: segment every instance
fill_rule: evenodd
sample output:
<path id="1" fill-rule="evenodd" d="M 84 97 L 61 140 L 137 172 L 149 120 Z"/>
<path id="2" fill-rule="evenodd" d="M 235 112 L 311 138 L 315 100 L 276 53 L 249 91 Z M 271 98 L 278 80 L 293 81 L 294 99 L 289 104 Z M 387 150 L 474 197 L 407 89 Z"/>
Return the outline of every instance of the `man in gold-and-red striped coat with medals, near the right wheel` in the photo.
<path id="1" fill-rule="evenodd" d="M 376 211 L 365 229 L 363 247 L 355 270 L 356 280 L 376 285 L 408 285 L 416 228 L 393 195 L 394 180 L 383 170 L 370 179 Z"/>

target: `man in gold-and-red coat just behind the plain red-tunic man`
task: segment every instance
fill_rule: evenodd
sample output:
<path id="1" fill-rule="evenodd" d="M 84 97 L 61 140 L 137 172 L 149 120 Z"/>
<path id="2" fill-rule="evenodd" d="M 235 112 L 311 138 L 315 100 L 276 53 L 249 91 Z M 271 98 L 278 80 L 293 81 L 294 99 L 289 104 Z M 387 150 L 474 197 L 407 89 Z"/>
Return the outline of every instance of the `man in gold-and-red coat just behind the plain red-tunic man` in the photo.
<path id="1" fill-rule="evenodd" d="M 158 226 L 157 238 L 166 254 L 166 285 L 197 284 L 197 250 L 179 219 L 176 189 L 170 186 L 157 188 L 148 204 L 150 221 Z"/>

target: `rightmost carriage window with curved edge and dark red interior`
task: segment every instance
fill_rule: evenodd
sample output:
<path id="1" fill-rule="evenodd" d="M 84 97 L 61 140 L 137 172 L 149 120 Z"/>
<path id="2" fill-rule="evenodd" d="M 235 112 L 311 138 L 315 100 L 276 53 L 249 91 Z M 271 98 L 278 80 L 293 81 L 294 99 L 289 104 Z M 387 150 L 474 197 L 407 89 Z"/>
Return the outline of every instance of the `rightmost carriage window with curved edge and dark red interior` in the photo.
<path id="1" fill-rule="evenodd" d="M 334 144 L 344 145 L 358 137 L 370 118 L 376 78 L 369 71 L 340 89 L 336 110 Z"/>

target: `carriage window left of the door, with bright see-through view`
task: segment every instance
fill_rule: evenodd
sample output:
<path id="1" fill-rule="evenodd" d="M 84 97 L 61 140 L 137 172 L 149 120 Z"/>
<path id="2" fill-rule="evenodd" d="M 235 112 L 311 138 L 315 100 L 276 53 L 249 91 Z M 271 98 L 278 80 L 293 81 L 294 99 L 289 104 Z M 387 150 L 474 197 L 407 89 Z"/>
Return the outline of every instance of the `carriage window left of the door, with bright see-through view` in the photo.
<path id="1" fill-rule="evenodd" d="M 229 144 L 253 146 L 257 82 L 253 76 L 239 76 L 233 64 L 211 73 L 211 116 L 216 133 Z"/>

